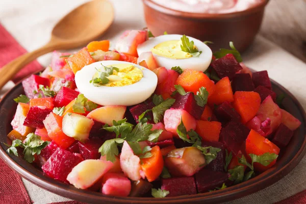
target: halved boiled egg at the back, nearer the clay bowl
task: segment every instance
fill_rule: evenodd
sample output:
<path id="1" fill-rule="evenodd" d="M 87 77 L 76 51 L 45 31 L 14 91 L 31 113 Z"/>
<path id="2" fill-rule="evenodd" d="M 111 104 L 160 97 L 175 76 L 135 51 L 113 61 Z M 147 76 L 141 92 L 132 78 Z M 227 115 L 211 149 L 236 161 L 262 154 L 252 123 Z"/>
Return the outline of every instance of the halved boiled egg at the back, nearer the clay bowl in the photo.
<path id="1" fill-rule="evenodd" d="M 194 47 L 201 52 L 195 57 L 181 49 L 182 37 L 182 35 L 162 35 L 151 38 L 138 45 L 138 56 L 145 52 L 152 52 L 160 67 L 171 69 L 174 66 L 180 66 L 183 70 L 205 71 L 212 61 L 212 50 L 200 40 L 187 36 L 190 42 L 194 42 Z"/>

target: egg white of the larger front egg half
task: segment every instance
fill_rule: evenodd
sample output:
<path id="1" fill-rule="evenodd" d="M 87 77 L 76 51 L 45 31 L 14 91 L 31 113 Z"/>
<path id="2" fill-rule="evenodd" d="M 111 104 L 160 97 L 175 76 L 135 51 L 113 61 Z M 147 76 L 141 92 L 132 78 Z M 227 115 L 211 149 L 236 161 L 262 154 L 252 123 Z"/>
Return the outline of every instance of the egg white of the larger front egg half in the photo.
<path id="1" fill-rule="evenodd" d="M 89 83 L 96 72 L 96 68 L 114 64 L 132 64 L 142 70 L 143 77 L 139 82 L 121 87 L 93 86 Z M 130 62 L 123 61 L 100 61 L 86 65 L 75 74 L 75 84 L 86 98 L 101 106 L 133 106 L 145 101 L 157 86 L 157 75 L 151 70 Z"/>

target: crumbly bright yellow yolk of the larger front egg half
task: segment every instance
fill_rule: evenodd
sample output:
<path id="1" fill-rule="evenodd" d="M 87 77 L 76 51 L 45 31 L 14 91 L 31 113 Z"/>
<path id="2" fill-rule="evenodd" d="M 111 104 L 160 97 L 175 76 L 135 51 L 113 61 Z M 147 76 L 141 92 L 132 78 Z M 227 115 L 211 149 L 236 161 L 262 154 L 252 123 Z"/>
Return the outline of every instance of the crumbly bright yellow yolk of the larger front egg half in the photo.
<path id="1" fill-rule="evenodd" d="M 107 77 L 109 79 L 109 83 L 102 86 L 120 87 L 132 85 L 139 82 L 143 77 L 141 69 L 135 67 L 134 65 L 113 64 L 110 66 L 117 67 L 119 71 L 114 70 L 113 74 Z M 98 77 L 98 71 L 93 75 L 93 78 L 96 77 Z"/>

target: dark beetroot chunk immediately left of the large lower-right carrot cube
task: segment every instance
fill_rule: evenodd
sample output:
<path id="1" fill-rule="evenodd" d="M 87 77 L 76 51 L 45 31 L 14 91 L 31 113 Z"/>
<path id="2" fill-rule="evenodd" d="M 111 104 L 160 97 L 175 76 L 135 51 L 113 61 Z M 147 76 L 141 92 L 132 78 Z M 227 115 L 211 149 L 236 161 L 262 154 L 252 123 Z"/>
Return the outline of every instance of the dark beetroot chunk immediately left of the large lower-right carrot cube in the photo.
<path id="1" fill-rule="evenodd" d="M 250 130 L 240 122 L 231 121 L 221 129 L 220 141 L 225 147 L 236 156 L 239 150 L 243 149 L 243 144 Z"/>

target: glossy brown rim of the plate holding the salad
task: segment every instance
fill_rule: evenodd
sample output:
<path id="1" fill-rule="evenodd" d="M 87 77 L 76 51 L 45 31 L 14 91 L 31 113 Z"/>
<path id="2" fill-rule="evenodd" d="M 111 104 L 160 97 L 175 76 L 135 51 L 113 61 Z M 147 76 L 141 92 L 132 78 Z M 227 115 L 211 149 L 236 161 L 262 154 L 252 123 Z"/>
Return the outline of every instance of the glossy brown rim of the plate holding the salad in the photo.
<path id="1" fill-rule="evenodd" d="M 296 99 L 294 95 L 292 95 L 291 92 L 289 92 L 286 88 L 284 88 L 282 85 L 278 84 L 274 80 L 270 79 L 272 84 L 279 87 L 282 91 L 285 92 L 287 96 L 289 96 L 293 103 L 296 105 L 296 107 L 301 112 L 303 120 L 306 122 L 306 113 L 305 110 L 302 108 L 299 101 Z M 4 101 L 6 100 L 7 96 L 9 96 L 12 92 L 14 92 L 17 88 L 21 86 L 21 82 L 16 84 L 10 91 L 8 91 L 0 100 L 0 109 L 3 106 Z M 302 127 L 301 127 L 302 128 Z M 303 133 L 304 136 L 306 136 L 306 125 L 303 127 Z M 293 170 L 294 167 L 301 161 L 303 156 L 306 153 L 306 137 L 304 138 L 299 150 L 296 152 L 294 157 L 283 167 L 279 168 L 275 172 L 275 166 L 268 169 L 267 171 L 259 174 L 256 177 L 253 177 L 252 179 L 237 184 L 235 186 L 231 186 L 225 189 L 221 189 L 218 191 L 212 191 L 212 192 L 206 192 L 206 193 L 198 193 L 194 195 L 183 195 L 183 196 L 176 196 L 176 197 L 165 197 L 165 198 L 148 198 L 148 197 L 116 197 L 116 196 L 105 196 L 101 195 L 101 193 L 98 192 L 91 192 L 87 190 L 77 189 L 74 188 L 71 185 L 67 185 L 61 182 L 58 182 L 56 180 L 53 180 L 51 178 L 46 177 L 46 179 L 42 180 L 38 174 L 34 172 L 30 172 L 30 170 L 27 170 L 23 168 L 21 165 L 19 165 L 17 162 L 15 162 L 11 156 L 7 154 L 7 152 L 1 147 L 0 145 L 0 158 L 3 159 L 3 161 L 15 172 L 17 172 L 20 176 L 22 176 L 24 179 L 30 181 L 31 183 L 47 190 L 53 193 L 56 193 L 58 195 L 80 200 L 83 202 L 101 202 L 104 201 L 106 203 L 137 203 L 137 204 L 149 204 L 152 202 L 158 202 L 160 204 L 174 204 L 174 203 L 201 203 L 202 199 L 209 199 L 210 203 L 216 203 L 222 201 L 229 201 L 233 199 L 237 199 L 240 197 L 245 196 L 246 194 L 257 192 L 261 189 L 256 189 L 254 186 L 260 186 L 263 185 L 264 188 L 272 185 L 273 183 L 276 183 L 277 181 L 281 180 L 285 175 L 287 175 L 289 172 Z M 35 168 L 35 167 L 34 167 Z M 36 171 L 41 172 L 40 170 L 36 169 Z M 59 191 L 60 189 L 60 191 Z"/>

